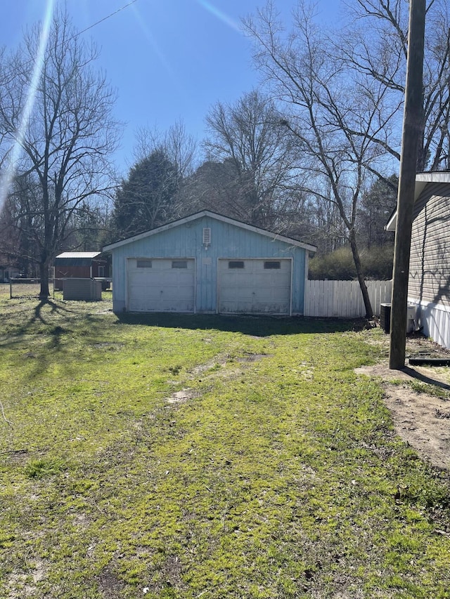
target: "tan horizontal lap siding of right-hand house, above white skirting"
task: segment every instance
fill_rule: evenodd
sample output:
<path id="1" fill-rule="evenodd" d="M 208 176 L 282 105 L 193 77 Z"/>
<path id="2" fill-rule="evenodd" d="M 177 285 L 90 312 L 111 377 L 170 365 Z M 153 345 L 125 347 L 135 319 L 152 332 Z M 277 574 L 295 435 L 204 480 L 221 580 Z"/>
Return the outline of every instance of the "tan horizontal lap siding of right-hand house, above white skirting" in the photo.
<path id="1" fill-rule="evenodd" d="M 450 185 L 427 185 L 415 214 L 408 296 L 450 306 Z"/>

